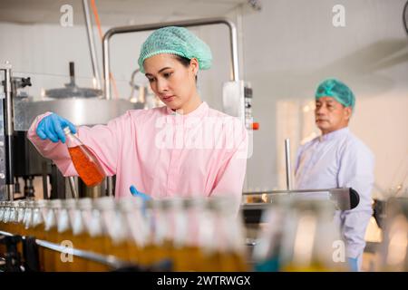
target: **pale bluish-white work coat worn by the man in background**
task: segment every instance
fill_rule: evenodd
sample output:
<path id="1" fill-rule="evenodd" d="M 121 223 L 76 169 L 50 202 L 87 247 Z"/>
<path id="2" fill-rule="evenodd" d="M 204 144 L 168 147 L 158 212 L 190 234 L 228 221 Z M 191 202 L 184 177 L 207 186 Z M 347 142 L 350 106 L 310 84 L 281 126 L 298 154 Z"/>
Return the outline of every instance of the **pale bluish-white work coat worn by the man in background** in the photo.
<path id="1" fill-rule="evenodd" d="M 353 188 L 359 205 L 337 211 L 335 222 L 345 238 L 346 256 L 361 258 L 365 230 L 373 214 L 374 155 L 348 128 L 316 137 L 301 146 L 295 168 L 296 189 Z"/>

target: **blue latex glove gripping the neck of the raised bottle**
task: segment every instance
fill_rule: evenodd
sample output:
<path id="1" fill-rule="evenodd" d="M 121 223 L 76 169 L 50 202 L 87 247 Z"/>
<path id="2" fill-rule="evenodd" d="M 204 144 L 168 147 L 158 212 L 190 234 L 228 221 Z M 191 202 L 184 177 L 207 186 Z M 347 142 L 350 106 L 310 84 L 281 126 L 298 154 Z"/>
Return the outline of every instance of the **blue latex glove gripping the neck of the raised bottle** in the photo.
<path id="1" fill-rule="evenodd" d="M 65 143 L 65 134 L 63 133 L 63 128 L 67 126 L 70 127 L 70 130 L 73 134 L 76 133 L 76 128 L 72 122 L 63 119 L 63 117 L 60 117 L 57 114 L 52 113 L 44 117 L 44 119 L 40 121 L 37 126 L 36 133 L 42 140 L 49 139 L 54 143 L 58 142 L 58 140 L 61 140 L 63 143 Z"/>

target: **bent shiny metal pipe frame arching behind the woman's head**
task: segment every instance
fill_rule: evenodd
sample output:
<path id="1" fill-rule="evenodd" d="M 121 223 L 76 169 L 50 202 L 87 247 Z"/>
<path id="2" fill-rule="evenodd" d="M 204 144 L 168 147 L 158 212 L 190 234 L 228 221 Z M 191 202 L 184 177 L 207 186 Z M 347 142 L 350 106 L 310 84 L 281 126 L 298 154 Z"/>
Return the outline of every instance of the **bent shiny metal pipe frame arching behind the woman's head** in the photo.
<path id="1" fill-rule="evenodd" d="M 227 18 L 207 18 L 198 20 L 186 20 L 186 21 L 176 21 L 167 22 L 160 24 L 141 24 L 141 25 L 129 25 L 121 27 L 113 27 L 103 35 L 102 43 L 102 58 L 103 58 L 103 79 L 104 79 L 104 92 L 105 98 L 107 100 L 111 99 L 111 60 L 109 51 L 109 42 L 114 34 L 128 34 L 141 31 L 148 31 L 159 29 L 165 26 L 203 26 L 211 24 L 226 24 L 229 28 L 229 40 L 230 40 L 230 50 L 231 50 L 231 81 L 239 81 L 239 63 L 238 63 L 238 36 L 237 28 L 234 23 L 229 21 Z"/>

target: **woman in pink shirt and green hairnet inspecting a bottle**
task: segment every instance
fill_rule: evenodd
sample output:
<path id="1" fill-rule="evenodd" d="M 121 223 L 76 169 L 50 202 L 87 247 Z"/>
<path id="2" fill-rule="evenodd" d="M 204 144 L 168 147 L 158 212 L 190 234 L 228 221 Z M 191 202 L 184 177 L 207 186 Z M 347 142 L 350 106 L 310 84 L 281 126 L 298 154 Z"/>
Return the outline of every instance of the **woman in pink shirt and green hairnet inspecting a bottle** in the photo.
<path id="1" fill-rule="evenodd" d="M 197 74 L 210 64 L 209 46 L 187 29 L 156 30 L 141 47 L 139 65 L 165 107 L 127 111 L 92 128 L 75 128 L 46 112 L 35 119 L 28 138 L 64 176 L 75 176 L 63 144 L 63 128 L 69 126 L 106 175 L 116 175 L 116 197 L 131 195 L 136 185 L 152 198 L 231 195 L 238 209 L 248 135 L 236 118 L 201 101 Z"/>

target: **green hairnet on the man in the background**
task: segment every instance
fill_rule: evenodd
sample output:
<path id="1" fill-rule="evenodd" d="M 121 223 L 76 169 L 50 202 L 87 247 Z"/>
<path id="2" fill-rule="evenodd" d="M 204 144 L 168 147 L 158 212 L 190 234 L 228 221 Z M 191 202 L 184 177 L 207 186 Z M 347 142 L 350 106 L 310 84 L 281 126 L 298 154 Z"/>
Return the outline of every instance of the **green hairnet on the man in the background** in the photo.
<path id="1" fill-rule="evenodd" d="M 326 79 L 321 82 L 316 90 L 316 100 L 322 97 L 332 97 L 345 107 L 355 109 L 355 94 L 345 85 L 336 79 Z"/>

